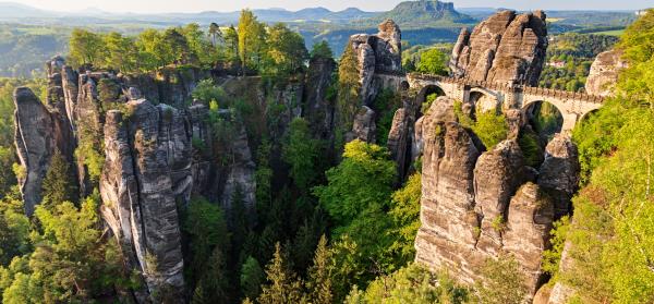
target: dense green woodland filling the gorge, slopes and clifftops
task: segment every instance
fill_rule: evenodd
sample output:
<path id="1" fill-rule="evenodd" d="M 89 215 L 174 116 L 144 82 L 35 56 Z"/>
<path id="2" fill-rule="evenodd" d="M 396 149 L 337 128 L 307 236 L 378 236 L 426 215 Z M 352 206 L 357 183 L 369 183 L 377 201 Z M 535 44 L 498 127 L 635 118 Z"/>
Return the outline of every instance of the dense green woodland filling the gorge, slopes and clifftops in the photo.
<path id="1" fill-rule="evenodd" d="M 560 76 L 565 88 L 576 82 L 571 89 L 579 89 L 578 82 L 585 77 L 576 70 L 585 70 L 576 58 L 588 60 L 615 42 L 581 35 L 561 39 L 574 41 L 576 51 L 561 50 L 550 57 L 573 58 L 569 62 L 574 71 L 566 70 Z M 585 48 L 579 49 L 582 45 Z M 578 303 L 654 301 L 650 190 L 654 13 L 630 26 L 618 46 L 626 50 L 631 65 L 620 77 L 617 97 L 574 130 L 584 184 L 574 198 L 573 219 L 557 223 L 552 232 L 554 248 L 544 260 L 553 282 L 561 280 L 581 291 Z M 132 37 L 76 29 L 69 48 L 68 59 L 76 66 L 123 73 L 162 66 L 227 69 L 239 75 L 262 75 L 269 80 L 266 84 L 295 77 L 306 69 L 307 60 L 334 57 L 327 44 L 316 44 L 310 51 L 299 34 L 283 24 L 261 23 L 250 11 L 242 12 L 238 26 L 208 31 L 190 24 Z M 356 110 L 352 100 L 359 90 L 355 58 L 348 50 L 340 59 L 330 94 L 341 113 Z M 447 73 L 438 47 L 411 52 L 404 62 L 408 70 Z M 542 81 L 547 83 L 552 73 L 544 73 Z M 558 87 L 558 81 L 559 76 L 556 85 L 547 86 Z M 45 100 L 46 84 L 39 78 L 1 82 L 0 163 L 14 168 L 0 172 L 2 303 L 105 302 L 142 283 L 124 271 L 118 244 L 104 235 L 97 192 L 77 197 L 71 165 L 61 156 L 53 158 L 48 170 L 44 202 L 34 218 L 24 215 L 16 186 L 16 177 L 24 173 L 14 165 L 11 95 L 14 87 L 27 85 Z M 227 97 L 211 81 L 202 82 L 193 97 L 209 106 L 217 137 L 226 135 L 227 124 L 218 115 L 219 109 L 232 109 L 252 123 L 249 130 L 261 126 L 249 119 L 252 108 Z M 380 110 L 379 145 L 344 144 L 342 133 L 352 124 L 349 114 L 339 118 L 335 143 L 314 137 L 302 118 L 292 121 L 279 143 L 259 134 L 256 224 L 247 224 L 251 219 L 238 193 L 229 210 L 203 197 L 194 197 L 181 210 L 191 303 L 520 303 L 524 288 L 518 266 L 510 259 L 486 265 L 482 271 L 488 280 L 476 285 L 457 283 L 445 269 L 432 272 L 412 263 L 420 227 L 421 168 L 416 163 L 414 173 L 399 185 L 384 139 L 398 104 L 392 93 L 383 93 L 375 100 Z M 276 113 L 269 110 L 264 124 L 272 124 Z M 461 121 L 485 146 L 507 136 L 504 115 L 481 113 L 476 121 Z M 533 141 L 521 138 L 521 146 L 533 145 Z M 335 151 L 339 155 L 331 157 Z M 276 178 L 274 155 L 280 156 L 288 171 L 281 182 Z M 576 263 L 559 273 L 566 241 L 574 245 L 571 255 Z M 158 296 L 165 300 L 165 294 Z"/>

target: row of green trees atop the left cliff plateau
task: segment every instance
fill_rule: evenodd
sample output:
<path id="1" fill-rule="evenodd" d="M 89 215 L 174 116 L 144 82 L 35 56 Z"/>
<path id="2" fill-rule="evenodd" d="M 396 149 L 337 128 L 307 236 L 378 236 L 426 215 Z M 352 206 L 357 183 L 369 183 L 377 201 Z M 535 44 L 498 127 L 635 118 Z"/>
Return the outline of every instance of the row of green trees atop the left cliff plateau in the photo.
<path id="1" fill-rule="evenodd" d="M 150 72 L 166 65 L 232 66 L 261 74 L 292 74 L 304 66 L 304 39 L 282 23 L 268 26 L 243 10 L 238 27 L 213 23 L 206 31 L 196 23 L 164 31 L 146 29 L 137 36 L 117 32 L 71 34 L 69 61 L 122 72 Z"/>

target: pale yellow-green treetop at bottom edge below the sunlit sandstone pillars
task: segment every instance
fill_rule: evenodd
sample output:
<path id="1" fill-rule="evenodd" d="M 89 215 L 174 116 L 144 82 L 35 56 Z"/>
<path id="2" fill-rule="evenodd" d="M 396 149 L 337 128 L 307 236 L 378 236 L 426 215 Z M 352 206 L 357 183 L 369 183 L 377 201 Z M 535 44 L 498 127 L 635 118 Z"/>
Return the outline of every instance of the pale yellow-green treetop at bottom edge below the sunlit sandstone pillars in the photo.
<path id="1" fill-rule="evenodd" d="M 488 258 L 482 269 L 484 278 L 475 284 L 474 295 L 480 303 L 520 304 L 524 303 L 529 290 L 524 276 L 520 272 L 520 264 L 512 256 Z"/>

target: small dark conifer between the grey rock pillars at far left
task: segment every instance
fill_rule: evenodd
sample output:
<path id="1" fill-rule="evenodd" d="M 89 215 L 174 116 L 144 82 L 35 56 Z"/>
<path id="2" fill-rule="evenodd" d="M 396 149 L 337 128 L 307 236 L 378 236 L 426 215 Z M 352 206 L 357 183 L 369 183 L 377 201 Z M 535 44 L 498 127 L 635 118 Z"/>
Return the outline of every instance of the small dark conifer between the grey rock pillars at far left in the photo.
<path id="1" fill-rule="evenodd" d="M 76 200 L 76 186 L 71 174 L 70 166 L 59 149 L 55 149 L 41 189 L 44 195 L 41 205 L 49 210 L 55 210 L 55 206 L 63 202 L 75 203 Z"/>

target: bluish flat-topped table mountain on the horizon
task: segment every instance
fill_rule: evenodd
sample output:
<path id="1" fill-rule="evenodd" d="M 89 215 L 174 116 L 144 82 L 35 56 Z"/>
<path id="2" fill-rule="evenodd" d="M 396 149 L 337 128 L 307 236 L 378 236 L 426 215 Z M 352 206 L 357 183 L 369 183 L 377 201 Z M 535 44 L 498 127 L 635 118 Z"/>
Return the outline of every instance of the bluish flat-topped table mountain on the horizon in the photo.
<path id="1" fill-rule="evenodd" d="M 451 2 L 438 0 L 405 1 L 389 12 L 370 19 L 371 23 L 379 23 L 391 19 L 400 27 L 448 26 L 476 22 L 473 17 L 455 10 Z"/>

